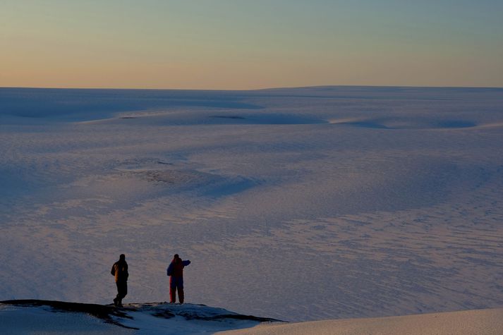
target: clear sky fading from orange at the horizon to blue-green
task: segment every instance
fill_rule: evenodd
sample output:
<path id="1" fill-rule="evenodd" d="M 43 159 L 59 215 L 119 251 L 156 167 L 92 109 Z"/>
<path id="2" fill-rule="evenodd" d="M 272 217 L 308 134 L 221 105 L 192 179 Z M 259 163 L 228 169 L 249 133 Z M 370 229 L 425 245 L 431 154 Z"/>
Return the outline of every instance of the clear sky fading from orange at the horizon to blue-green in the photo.
<path id="1" fill-rule="evenodd" d="M 0 0 L 0 86 L 503 87 L 502 0 Z"/>

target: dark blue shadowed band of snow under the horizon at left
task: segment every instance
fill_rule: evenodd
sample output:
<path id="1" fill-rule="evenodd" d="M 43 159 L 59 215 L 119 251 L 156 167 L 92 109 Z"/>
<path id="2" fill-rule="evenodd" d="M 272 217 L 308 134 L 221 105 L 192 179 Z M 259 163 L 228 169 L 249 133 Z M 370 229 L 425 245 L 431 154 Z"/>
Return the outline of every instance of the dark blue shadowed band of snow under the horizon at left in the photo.
<path id="1" fill-rule="evenodd" d="M 91 121 L 124 111 L 180 107 L 263 108 L 231 91 L 0 88 L 0 116 Z"/>

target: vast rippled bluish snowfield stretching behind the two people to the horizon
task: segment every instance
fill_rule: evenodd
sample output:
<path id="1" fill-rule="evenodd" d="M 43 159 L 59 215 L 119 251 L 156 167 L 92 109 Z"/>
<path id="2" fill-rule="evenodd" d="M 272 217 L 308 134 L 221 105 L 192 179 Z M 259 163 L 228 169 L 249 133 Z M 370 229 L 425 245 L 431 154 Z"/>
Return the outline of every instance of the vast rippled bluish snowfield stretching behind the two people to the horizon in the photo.
<path id="1" fill-rule="evenodd" d="M 0 300 L 503 305 L 503 89 L 0 89 Z"/>

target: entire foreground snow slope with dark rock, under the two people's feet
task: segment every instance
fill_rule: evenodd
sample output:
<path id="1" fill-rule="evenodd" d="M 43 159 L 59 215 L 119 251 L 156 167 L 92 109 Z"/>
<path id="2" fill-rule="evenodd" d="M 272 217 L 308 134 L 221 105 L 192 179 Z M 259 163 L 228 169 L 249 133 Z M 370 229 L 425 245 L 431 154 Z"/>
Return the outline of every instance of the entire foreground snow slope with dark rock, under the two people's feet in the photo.
<path id="1" fill-rule="evenodd" d="M 503 332 L 503 309 L 284 323 L 204 305 L 150 303 L 116 308 L 13 300 L 0 303 L 0 327 L 2 334 L 497 335 Z"/>

